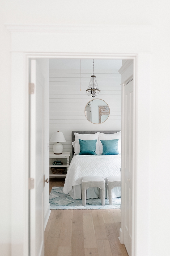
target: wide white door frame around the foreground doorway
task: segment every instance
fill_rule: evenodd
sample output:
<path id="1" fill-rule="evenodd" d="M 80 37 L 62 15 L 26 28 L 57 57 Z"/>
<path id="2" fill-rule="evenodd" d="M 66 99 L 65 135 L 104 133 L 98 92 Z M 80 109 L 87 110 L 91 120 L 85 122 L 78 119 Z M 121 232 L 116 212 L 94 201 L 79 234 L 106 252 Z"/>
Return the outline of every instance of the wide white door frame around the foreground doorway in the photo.
<path id="1" fill-rule="evenodd" d="M 18 28 L 19 27 L 19 28 Z M 91 53 L 75 52 L 74 50 L 62 51 L 57 53 L 54 51 L 53 46 L 45 44 L 42 46 L 42 38 L 47 37 L 45 27 L 44 33 L 38 35 L 38 39 L 35 38 L 37 27 L 30 26 L 30 30 L 23 31 L 22 26 L 7 26 L 12 31 L 12 50 L 11 50 L 11 180 L 12 180 L 12 219 L 11 219 L 11 240 L 12 240 L 12 256 L 28 256 L 28 59 L 29 58 L 107 58 L 107 59 L 133 59 L 134 60 L 134 95 L 135 95 L 135 177 L 134 177 L 134 207 L 133 207 L 133 256 L 147 256 L 148 252 L 148 180 L 146 176 L 149 170 L 149 87 L 150 87 L 150 52 L 149 46 L 150 39 L 148 33 L 151 33 L 151 28 L 143 27 L 142 33 L 146 33 L 147 37 L 141 42 L 141 37 L 137 33 L 137 29 L 114 28 L 114 44 L 117 44 L 117 50 L 114 53 L 114 49 L 110 53 L 104 53 L 101 48 L 99 53 L 94 50 Z M 95 27 L 96 28 L 96 27 Z M 35 29 L 35 30 L 34 30 Z M 72 28 L 67 28 L 72 29 Z M 91 28 L 90 28 L 91 29 Z M 33 36 L 30 34 L 34 30 Z M 108 29 L 110 31 L 110 28 Z M 121 30 L 121 32 L 120 32 Z M 18 32 L 20 31 L 20 33 Z M 81 28 L 80 28 L 81 31 Z M 125 44 L 122 44 L 123 36 L 127 35 L 128 31 L 136 37 L 133 53 L 132 49 L 127 48 L 132 44 L 132 41 L 128 41 L 128 37 L 125 37 Z M 24 33 L 23 33 L 24 32 Z M 28 32 L 28 33 L 27 33 Z M 42 32 L 42 31 L 41 31 Z M 61 31 L 60 31 L 61 32 Z M 67 34 L 68 31 L 65 31 Z M 77 33 L 77 31 L 72 31 Z M 87 31 L 86 31 L 87 32 Z M 88 31 L 89 32 L 89 31 Z M 80 32 L 78 32 L 80 33 Z M 91 33 L 91 32 L 89 32 Z M 98 33 L 98 32 L 97 32 Z M 105 33 L 101 32 L 101 33 Z M 113 31 L 112 31 L 113 33 Z M 134 33 L 134 34 L 133 34 Z M 31 35 L 31 37 L 30 37 Z M 49 31 L 49 35 L 57 36 L 57 40 L 60 41 L 58 31 Z M 61 34 L 60 34 L 61 35 Z M 19 45 L 18 36 L 21 40 Z M 101 36 L 104 36 L 101 34 Z M 39 38 L 40 37 L 40 38 Z M 30 41 L 29 41 L 29 38 Z M 33 39 L 35 38 L 35 44 Z M 142 34 L 143 38 L 143 34 Z M 138 40 L 139 39 L 139 40 Z M 25 41 L 24 41 L 25 40 Z M 49 38 L 49 40 L 51 40 Z M 138 42 L 137 42 L 138 40 Z M 62 44 L 62 42 L 61 42 Z M 68 41 L 67 45 L 70 42 Z M 139 44 L 137 49 L 136 44 Z M 39 50 L 39 45 L 41 50 Z M 120 46 L 122 45 L 122 46 Z M 144 46 L 143 46 L 144 45 Z M 126 47 L 124 47 L 126 46 Z M 31 47 L 31 48 L 30 48 Z M 43 48 L 44 47 L 44 48 Z M 85 47 L 85 46 L 83 46 Z M 119 47 L 119 48 L 118 48 Z M 136 48 L 135 48 L 136 47 Z M 143 47 L 143 48 L 142 48 Z M 50 48 L 50 51 L 46 49 Z M 35 49 L 35 50 L 30 50 Z M 147 49 L 147 50 L 146 50 Z M 71 52 L 71 53 L 70 53 Z M 122 52 L 123 54 L 120 54 Z M 145 76 L 143 75 L 145 74 Z M 148 99 L 148 101 L 146 101 Z M 145 104 L 143 104 L 145 102 Z M 24 171 L 23 171 L 24 170 Z M 145 185 L 145 191 L 143 187 Z M 145 203 L 145 208 L 143 207 Z M 17 250 L 16 250 L 17 248 Z"/>

